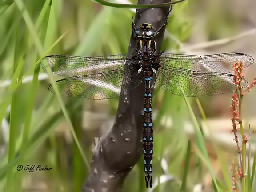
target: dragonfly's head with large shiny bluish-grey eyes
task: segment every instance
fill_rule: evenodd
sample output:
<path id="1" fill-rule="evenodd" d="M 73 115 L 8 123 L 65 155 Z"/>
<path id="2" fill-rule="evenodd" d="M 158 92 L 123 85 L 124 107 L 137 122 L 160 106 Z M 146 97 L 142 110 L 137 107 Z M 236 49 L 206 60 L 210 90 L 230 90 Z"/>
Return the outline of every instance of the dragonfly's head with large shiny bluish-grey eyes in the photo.
<path id="1" fill-rule="evenodd" d="M 156 29 L 149 23 L 141 24 L 140 28 L 135 30 L 135 35 L 139 38 L 149 39 L 156 36 L 156 33 Z"/>

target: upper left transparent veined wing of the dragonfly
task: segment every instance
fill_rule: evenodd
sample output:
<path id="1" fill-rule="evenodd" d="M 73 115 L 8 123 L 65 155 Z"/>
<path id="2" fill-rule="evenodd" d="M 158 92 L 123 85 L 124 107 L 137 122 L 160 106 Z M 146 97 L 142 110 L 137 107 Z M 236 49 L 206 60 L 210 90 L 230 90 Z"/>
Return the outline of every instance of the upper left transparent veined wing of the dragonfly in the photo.
<path id="1" fill-rule="evenodd" d="M 52 55 L 45 57 L 44 60 L 38 64 L 38 67 L 45 70 L 43 62 L 47 61 L 53 73 L 72 77 L 122 68 L 129 60 L 132 60 L 132 58 L 127 58 L 126 55 L 98 57 Z"/>

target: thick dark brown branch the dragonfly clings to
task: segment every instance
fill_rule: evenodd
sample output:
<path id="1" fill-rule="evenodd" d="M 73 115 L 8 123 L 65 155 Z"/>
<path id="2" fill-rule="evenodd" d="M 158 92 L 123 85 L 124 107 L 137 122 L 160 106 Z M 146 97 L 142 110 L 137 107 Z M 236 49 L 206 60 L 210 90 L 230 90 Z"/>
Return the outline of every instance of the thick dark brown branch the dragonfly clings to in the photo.
<path id="1" fill-rule="evenodd" d="M 138 0 L 138 4 L 165 3 L 169 0 Z M 164 24 L 169 7 L 140 9 L 136 12 L 135 28 L 142 23 L 151 23 L 155 28 Z M 131 24 L 132 25 L 132 24 Z M 164 29 L 154 39 L 156 54 L 160 47 Z M 129 55 L 136 54 L 137 40 L 130 39 Z M 93 151 L 91 171 L 82 189 L 83 192 L 120 192 L 125 177 L 142 155 L 142 124 L 144 85 L 120 96 L 116 121 L 107 134 L 101 137 Z M 143 166 L 143 165 L 141 165 Z"/>

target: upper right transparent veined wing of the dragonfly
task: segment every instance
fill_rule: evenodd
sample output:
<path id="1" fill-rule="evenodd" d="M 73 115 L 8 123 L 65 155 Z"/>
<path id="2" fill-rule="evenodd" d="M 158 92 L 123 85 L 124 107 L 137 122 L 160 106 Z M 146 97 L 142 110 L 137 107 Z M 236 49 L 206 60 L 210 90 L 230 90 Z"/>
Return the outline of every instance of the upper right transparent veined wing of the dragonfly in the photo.
<path id="1" fill-rule="evenodd" d="M 191 71 L 220 73 L 232 72 L 234 64 L 240 61 L 244 63 L 244 67 L 254 62 L 251 56 L 243 53 L 222 53 L 205 56 L 161 54 L 159 57 L 162 68 L 166 70 L 180 68 L 181 70 L 188 69 Z"/>

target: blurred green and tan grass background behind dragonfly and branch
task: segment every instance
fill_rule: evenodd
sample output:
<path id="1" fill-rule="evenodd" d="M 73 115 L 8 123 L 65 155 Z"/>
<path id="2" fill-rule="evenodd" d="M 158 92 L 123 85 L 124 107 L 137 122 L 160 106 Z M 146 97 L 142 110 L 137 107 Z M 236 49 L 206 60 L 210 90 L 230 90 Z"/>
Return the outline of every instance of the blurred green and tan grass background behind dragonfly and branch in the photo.
<path id="1" fill-rule="evenodd" d="M 199 55 L 244 52 L 256 58 L 255 9 L 256 2 L 252 0 L 187 0 L 175 4 L 162 51 Z M 48 92 L 48 75 L 39 73 L 35 66 L 49 54 L 126 53 L 134 13 L 90 0 L 0 1 L 0 191 L 80 191 L 88 174 L 94 140 L 112 126 L 118 98 L 60 99 Z M 245 70 L 249 80 L 255 75 L 255 66 Z M 256 128 L 255 96 L 256 91 L 252 90 L 244 97 L 246 128 L 249 123 L 252 129 Z M 199 100 L 205 116 L 200 112 Z M 156 88 L 153 169 L 157 176 L 154 181 L 160 184 L 154 183 L 152 191 L 179 191 L 184 172 L 184 191 L 216 191 L 216 184 L 219 191 L 231 190 L 232 163 L 238 159 L 230 134 L 231 94 L 199 100 L 190 98 L 186 104 L 183 97 Z M 63 115 L 61 103 L 68 116 Z M 191 119 L 190 106 L 197 124 Z M 196 126 L 204 133 L 203 140 L 196 133 Z M 70 128 L 76 132 L 83 155 Z M 186 172 L 188 140 L 192 144 Z M 252 158 L 255 136 L 250 144 Z M 18 172 L 19 164 L 47 165 L 52 171 Z M 252 187 L 255 191 L 256 185 Z M 129 191 L 147 191 L 142 160 L 125 180 L 124 192 Z"/>

